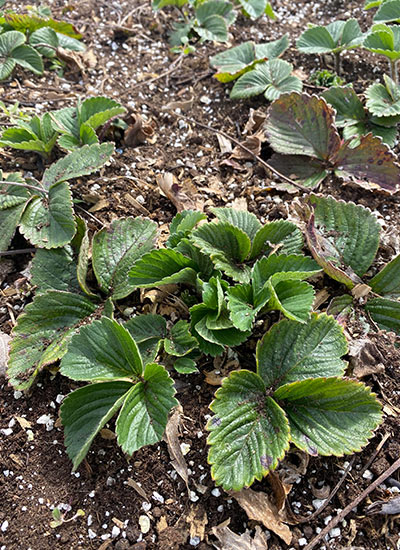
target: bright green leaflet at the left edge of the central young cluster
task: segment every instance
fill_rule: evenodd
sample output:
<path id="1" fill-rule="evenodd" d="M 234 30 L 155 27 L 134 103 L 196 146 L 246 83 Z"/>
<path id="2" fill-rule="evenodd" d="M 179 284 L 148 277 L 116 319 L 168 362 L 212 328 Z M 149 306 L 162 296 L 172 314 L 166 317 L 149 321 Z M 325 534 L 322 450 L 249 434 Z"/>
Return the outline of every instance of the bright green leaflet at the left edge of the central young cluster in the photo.
<path id="1" fill-rule="evenodd" d="M 142 256 L 129 271 L 131 287 L 170 283 L 196 284 L 196 264 L 176 250 L 164 248 Z"/>

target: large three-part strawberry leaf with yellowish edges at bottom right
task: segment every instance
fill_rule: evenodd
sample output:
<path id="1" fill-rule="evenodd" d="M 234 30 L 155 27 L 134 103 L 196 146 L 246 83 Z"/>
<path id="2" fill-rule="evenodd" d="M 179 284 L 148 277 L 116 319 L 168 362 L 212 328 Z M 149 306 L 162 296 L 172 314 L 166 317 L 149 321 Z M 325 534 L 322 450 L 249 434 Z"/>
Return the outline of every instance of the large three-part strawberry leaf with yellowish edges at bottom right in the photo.
<path id="1" fill-rule="evenodd" d="M 369 388 L 343 379 L 338 323 L 284 320 L 257 344 L 256 372 L 232 372 L 217 390 L 208 461 L 217 485 L 240 490 L 276 468 L 292 442 L 312 456 L 360 450 L 381 421 Z"/>

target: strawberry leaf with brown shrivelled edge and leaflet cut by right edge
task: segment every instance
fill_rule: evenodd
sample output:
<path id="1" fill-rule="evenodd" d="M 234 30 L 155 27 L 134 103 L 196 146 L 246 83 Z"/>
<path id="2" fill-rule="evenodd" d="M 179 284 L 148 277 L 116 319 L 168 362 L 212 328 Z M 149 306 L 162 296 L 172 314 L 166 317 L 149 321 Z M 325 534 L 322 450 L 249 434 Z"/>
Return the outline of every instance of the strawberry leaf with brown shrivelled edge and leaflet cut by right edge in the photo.
<path id="1" fill-rule="evenodd" d="M 356 296 L 357 285 L 364 285 L 365 311 L 380 328 L 400 334 L 400 256 L 364 279 L 379 246 L 380 225 L 375 216 L 367 208 L 332 197 L 311 195 L 310 204 L 306 237 L 314 259 Z M 352 303 L 350 296 L 340 300 L 343 307 Z"/>

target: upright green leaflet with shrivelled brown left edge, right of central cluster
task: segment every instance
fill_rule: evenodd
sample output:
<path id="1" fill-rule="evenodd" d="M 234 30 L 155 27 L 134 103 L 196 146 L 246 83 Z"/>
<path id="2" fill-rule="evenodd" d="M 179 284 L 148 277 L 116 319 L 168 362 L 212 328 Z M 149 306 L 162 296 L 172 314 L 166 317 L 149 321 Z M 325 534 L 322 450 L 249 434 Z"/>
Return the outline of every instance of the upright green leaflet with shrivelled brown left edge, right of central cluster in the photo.
<path id="1" fill-rule="evenodd" d="M 330 255 L 328 258 L 325 254 L 325 259 L 328 258 L 344 271 L 348 271 L 350 267 L 356 275 L 362 277 L 371 266 L 378 250 L 380 226 L 375 216 L 363 206 L 336 201 L 332 197 L 311 195 L 310 203 L 315 212 L 314 230 L 325 239 L 320 243 Z M 326 265 L 322 265 L 320 261 L 324 251 L 321 249 L 319 253 L 316 250 L 311 230 L 307 229 L 306 236 L 311 251 L 314 249 L 315 260 L 325 269 Z M 338 280 L 335 276 L 333 278 Z M 345 284 L 354 286 L 351 284 L 351 276 L 350 281 Z"/>

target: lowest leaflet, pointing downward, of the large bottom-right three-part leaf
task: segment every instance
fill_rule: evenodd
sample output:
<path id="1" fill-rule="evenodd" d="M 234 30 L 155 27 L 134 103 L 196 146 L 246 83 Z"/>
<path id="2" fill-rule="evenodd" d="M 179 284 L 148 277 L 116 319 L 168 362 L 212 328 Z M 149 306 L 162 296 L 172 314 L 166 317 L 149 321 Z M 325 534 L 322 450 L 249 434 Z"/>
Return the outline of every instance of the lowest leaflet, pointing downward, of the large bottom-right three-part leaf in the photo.
<path id="1" fill-rule="evenodd" d="M 257 374 L 232 372 L 210 408 L 208 462 L 217 485 L 238 491 L 276 468 L 289 447 L 288 421 Z"/>

